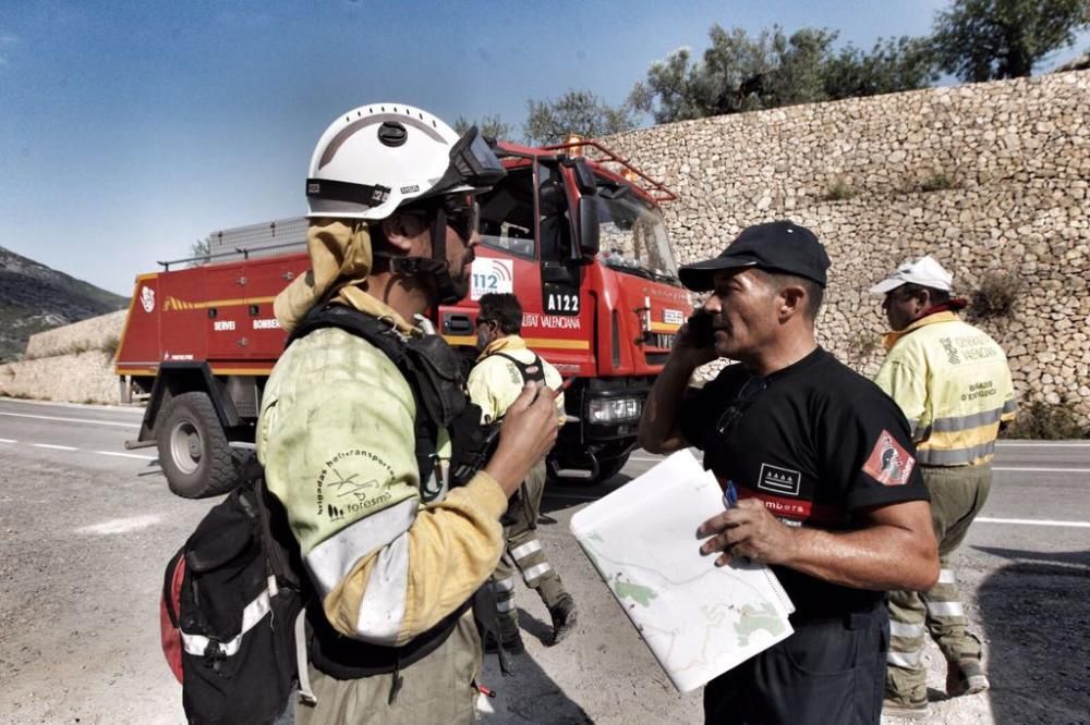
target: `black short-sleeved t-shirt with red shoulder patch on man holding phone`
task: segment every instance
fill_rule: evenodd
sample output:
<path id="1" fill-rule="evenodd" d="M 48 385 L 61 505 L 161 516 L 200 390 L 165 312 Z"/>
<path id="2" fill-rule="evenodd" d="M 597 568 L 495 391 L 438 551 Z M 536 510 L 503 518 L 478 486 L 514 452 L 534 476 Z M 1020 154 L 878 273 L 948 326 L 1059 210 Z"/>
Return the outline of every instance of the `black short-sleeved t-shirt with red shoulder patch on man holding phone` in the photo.
<path id="1" fill-rule="evenodd" d="M 682 434 L 739 499 L 761 499 L 789 526 L 829 530 L 860 528 L 862 509 L 928 500 L 908 422 L 877 385 L 821 347 L 754 378 L 729 366 L 681 407 Z M 797 616 L 863 611 L 883 597 L 774 569 Z"/>

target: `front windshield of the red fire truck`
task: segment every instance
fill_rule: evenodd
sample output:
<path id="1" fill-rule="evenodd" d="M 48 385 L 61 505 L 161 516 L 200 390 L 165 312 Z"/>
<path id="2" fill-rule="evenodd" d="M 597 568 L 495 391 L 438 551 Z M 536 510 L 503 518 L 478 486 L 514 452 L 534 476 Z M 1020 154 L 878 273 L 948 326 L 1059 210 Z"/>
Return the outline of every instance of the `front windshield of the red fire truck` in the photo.
<path id="1" fill-rule="evenodd" d="M 601 260 L 619 272 L 679 284 L 662 213 L 627 186 L 603 179 L 597 198 Z"/>

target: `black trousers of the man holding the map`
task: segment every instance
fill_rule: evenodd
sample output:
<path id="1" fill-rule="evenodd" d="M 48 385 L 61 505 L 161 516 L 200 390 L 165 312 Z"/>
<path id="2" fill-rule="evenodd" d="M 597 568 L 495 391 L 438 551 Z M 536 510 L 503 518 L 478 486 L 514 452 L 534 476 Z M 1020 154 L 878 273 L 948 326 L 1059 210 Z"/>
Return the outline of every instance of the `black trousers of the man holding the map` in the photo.
<path id="1" fill-rule="evenodd" d="M 704 722 L 879 723 L 889 649 L 886 607 L 791 624 L 794 635 L 707 684 Z"/>

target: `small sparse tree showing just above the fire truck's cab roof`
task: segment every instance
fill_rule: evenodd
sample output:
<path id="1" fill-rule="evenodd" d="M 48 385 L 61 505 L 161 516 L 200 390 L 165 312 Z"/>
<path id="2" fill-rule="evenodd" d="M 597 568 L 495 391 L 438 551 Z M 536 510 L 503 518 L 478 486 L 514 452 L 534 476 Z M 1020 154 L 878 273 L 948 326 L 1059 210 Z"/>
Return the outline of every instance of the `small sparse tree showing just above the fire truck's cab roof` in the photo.
<path id="1" fill-rule="evenodd" d="M 589 90 L 569 90 L 555 101 L 530 99 L 526 107 L 522 131 L 534 145 L 559 144 L 568 134 L 600 138 L 635 127 L 628 103 L 614 108 Z"/>

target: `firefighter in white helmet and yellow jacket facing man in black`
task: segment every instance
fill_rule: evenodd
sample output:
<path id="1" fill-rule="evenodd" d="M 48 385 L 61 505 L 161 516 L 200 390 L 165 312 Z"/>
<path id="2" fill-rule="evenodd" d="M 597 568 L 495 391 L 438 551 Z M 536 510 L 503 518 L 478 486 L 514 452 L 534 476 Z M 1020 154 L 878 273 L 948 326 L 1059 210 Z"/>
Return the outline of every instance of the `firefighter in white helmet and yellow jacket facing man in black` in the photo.
<path id="1" fill-rule="evenodd" d="M 287 330 L 340 310 L 398 344 L 409 320 L 458 299 L 476 243 L 473 194 L 504 175 L 475 128 L 459 138 L 400 105 L 342 115 L 307 180 L 312 268 L 275 302 Z M 385 339 L 384 339 L 385 340 Z M 385 343 L 384 343 L 385 344 Z M 552 397 L 526 389 L 496 453 L 444 490 L 445 431 L 388 354 L 344 329 L 295 339 L 266 385 L 257 452 L 315 590 L 302 723 L 467 723 L 481 646 L 467 601 L 504 549 L 508 496 L 550 447 Z M 461 391 L 458 391 L 461 394 Z M 428 414 L 429 415 L 429 414 Z"/>

